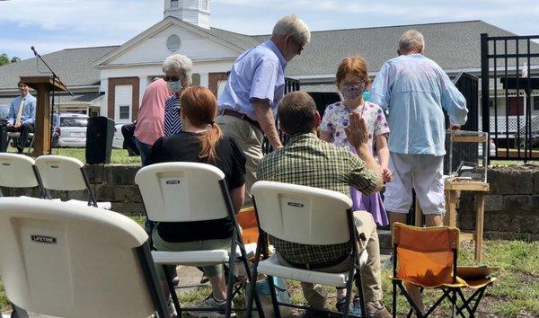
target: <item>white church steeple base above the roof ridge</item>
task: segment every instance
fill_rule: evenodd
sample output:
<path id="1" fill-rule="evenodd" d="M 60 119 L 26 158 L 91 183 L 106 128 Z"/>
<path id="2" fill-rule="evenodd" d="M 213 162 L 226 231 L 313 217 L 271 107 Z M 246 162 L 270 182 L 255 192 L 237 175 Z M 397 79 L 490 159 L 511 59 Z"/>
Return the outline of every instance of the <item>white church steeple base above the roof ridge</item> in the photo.
<path id="1" fill-rule="evenodd" d="M 164 0 L 163 15 L 209 29 L 209 0 Z"/>

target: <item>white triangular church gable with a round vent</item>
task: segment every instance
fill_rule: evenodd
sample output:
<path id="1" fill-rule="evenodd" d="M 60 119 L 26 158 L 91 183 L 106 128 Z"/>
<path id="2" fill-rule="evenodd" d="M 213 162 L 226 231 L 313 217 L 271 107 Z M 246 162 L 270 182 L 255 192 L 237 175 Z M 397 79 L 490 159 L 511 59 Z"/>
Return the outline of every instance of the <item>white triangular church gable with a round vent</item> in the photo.
<path id="1" fill-rule="evenodd" d="M 180 49 L 176 53 L 190 57 L 192 60 L 235 58 L 239 55 L 239 51 L 229 49 L 197 33 L 185 30 L 181 26 L 173 25 L 134 48 L 128 49 L 127 52 L 110 61 L 108 65 L 163 63 L 164 58 L 172 54 L 166 49 L 166 40 L 172 34 L 178 35 L 181 39 Z"/>

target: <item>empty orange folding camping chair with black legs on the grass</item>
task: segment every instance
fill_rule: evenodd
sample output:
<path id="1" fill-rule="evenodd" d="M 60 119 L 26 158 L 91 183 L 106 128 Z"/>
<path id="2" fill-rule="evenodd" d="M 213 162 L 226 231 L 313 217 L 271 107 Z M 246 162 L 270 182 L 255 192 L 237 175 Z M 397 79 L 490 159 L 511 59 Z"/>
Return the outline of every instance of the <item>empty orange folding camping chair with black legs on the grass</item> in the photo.
<path id="1" fill-rule="evenodd" d="M 428 317 L 445 299 L 453 305 L 452 317 L 465 317 L 464 311 L 470 317 L 474 316 L 485 289 L 496 280 L 489 277 L 496 269 L 457 268 L 459 233 L 457 228 L 447 226 L 424 228 L 401 223 L 393 225 L 393 317 L 397 313 L 397 287 L 411 305 L 408 316 L 415 312 L 418 317 Z M 426 313 L 421 313 L 402 282 L 417 285 L 421 290 L 437 288 L 443 294 Z M 462 292 L 465 287 L 476 291 L 466 298 Z M 461 305 L 458 305 L 457 296 Z"/>

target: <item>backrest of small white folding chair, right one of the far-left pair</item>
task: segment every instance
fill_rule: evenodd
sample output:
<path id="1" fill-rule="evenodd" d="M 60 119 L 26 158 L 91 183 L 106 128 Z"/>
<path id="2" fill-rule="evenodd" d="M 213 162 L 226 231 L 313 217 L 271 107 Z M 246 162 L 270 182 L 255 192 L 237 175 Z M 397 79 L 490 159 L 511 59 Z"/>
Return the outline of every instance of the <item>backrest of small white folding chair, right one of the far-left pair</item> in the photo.
<path id="1" fill-rule="evenodd" d="M 41 155 L 36 159 L 43 186 L 49 190 L 88 190 L 80 160 L 63 155 Z"/>

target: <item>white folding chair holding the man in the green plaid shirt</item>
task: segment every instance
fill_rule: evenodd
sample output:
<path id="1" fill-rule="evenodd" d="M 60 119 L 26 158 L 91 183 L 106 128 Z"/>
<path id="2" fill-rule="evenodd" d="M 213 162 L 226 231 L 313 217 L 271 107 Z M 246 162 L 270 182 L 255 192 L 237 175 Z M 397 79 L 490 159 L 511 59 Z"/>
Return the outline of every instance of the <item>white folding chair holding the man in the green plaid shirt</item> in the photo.
<path id="1" fill-rule="evenodd" d="M 358 234 L 351 210 L 352 200 L 336 191 L 271 181 L 257 181 L 252 186 L 251 193 L 260 232 L 252 276 L 256 277 L 259 273 L 268 275 L 275 315 L 280 317 L 278 305 L 305 309 L 305 306 L 278 302 L 272 278 L 278 276 L 331 287 L 346 287 L 344 317 L 349 315 L 352 282 L 355 280 L 363 317 L 367 317 L 359 269 L 367 263 L 368 255 L 367 251 L 361 254 L 358 251 Z M 349 243 L 349 270 L 327 273 L 282 265 L 276 253 L 269 257 L 268 235 L 290 243 L 306 245 Z M 260 261 L 260 256 L 263 261 Z M 251 305 L 250 299 L 248 308 Z"/>

